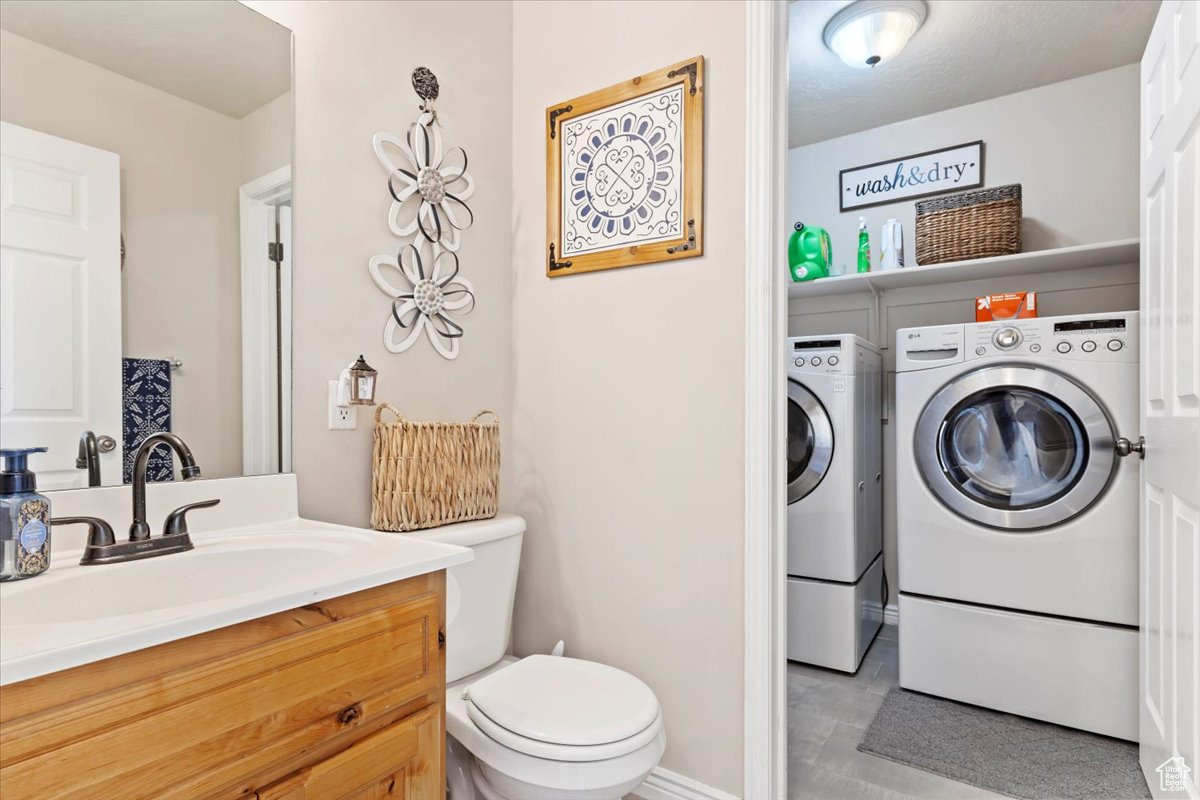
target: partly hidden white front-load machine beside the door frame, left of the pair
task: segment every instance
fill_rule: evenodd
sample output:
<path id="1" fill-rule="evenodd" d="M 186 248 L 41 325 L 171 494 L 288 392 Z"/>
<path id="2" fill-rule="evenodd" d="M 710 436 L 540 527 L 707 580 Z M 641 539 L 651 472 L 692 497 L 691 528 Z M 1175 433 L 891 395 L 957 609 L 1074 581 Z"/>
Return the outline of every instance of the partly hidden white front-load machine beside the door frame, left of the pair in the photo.
<path id="1" fill-rule="evenodd" d="M 787 657 L 856 672 L 883 624 L 882 359 L 787 339 Z"/>

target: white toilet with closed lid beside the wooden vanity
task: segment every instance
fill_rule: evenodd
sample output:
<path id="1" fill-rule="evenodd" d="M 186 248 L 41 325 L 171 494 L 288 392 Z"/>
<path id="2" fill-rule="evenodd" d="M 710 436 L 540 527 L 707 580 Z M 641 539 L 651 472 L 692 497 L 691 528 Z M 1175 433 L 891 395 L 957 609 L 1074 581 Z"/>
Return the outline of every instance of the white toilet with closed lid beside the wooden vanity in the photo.
<path id="1" fill-rule="evenodd" d="M 450 800 L 617 800 L 662 757 L 662 710 L 616 667 L 504 655 L 524 528 L 500 515 L 415 533 L 475 552 L 446 575 Z"/>

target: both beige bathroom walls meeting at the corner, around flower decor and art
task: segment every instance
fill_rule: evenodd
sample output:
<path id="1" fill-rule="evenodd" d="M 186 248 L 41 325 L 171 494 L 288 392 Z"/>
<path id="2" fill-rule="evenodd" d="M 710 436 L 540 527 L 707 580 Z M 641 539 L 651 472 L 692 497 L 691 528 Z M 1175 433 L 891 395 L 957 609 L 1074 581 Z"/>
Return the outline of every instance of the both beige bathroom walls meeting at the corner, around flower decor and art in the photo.
<path id="1" fill-rule="evenodd" d="M 642 676 L 666 708 L 664 764 L 739 792 L 742 4 L 685 17 L 671 2 L 460 4 L 452 36 L 406 37 L 398 65 L 397 31 L 443 30 L 445 5 L 247 5 L 295 31 L 302 513 L 367 519 L 366 417 L 356 433 L 324 429 L 324 381 L 360 350 L 380 371 L 380 396 L 415 417 L 496 408 L 502 506 L 529 519 L 516 651 L 565 638 L 568 652 Z M 635 12 L 647 24 L 630 29 Z M 655 32 L 665 28 L 673 37 Z M 625 46 L 581 52 L 578 30 Z M 708 150 L 722 155 L 708 163 L 708 254 L 550 282 L 546 106 L 700 53 L 709 58 Z M 457 362 L 425 345 L 384 353 L 386 308 L 366 273 L 372 254 L 396 247 L 371 136 L 412 120 L 416 65 L 440 79 L 448 142 L 467 149 L 479 187 L 462 255 L 480 305 Z"/>

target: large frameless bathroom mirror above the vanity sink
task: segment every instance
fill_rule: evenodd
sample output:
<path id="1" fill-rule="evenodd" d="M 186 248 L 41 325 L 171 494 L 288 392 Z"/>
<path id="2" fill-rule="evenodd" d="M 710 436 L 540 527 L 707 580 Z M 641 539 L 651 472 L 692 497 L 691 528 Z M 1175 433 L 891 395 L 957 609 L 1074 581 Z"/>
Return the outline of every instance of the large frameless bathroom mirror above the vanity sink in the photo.
<path id="1" fill-rule="evenodd" d="M 0 0 L 0 441 L 41 489 L 290 470 L 292 32 L 236 0 Z M 179 480 L 166 447 L 150 480 Z"/>

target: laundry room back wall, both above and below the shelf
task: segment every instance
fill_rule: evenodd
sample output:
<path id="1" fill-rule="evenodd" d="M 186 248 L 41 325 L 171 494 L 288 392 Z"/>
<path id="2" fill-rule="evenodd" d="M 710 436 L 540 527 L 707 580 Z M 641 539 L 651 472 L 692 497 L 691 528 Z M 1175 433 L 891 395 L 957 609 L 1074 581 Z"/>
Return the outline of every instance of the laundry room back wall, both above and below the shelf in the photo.
<path id="1" fill-rule="evenodd" d="M 911 264 L 914 201 L 838 211 L 838 172 L 940 146 L 983 139 L 985 186 L 1022 186 L 1022 249 L 1036 251 L 1138 236 L 1138 65 L 1064 80 L 995 100 L 852 133 L 788 152 L 791 221 L 829 230 L 835 263 L 853 270 L 858 217 L 868 218 L 877 261 L 880 228 L 905 227 Z M 974 321 L 974 299 L 1036 290 L 1042 317 L 1138 308 L 1138 264 L 1040 272 L 886 291 L 796 299 L 788 335 L 857 333 L 883 348 L 883 540 L 896 593 L 895 333 L 902 327 Z"/>

